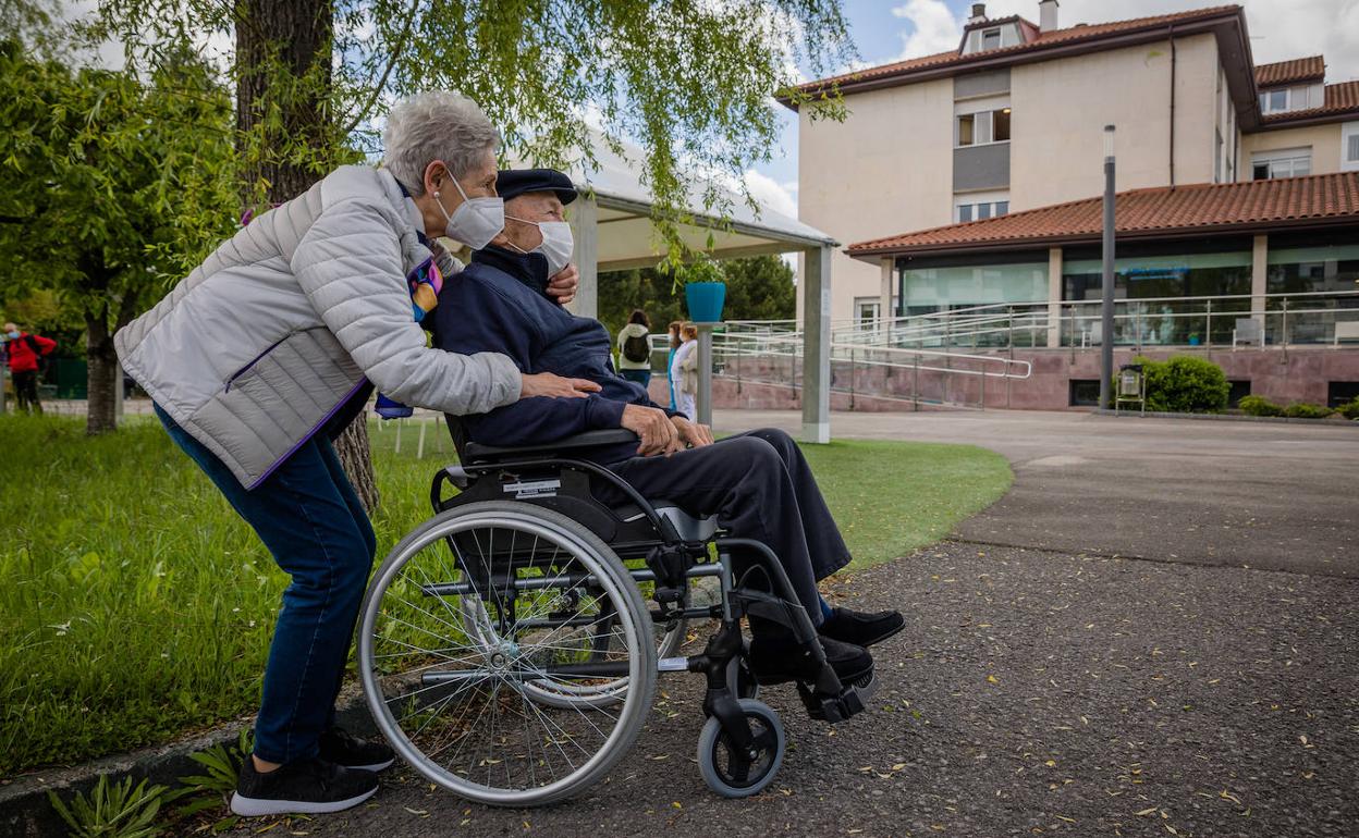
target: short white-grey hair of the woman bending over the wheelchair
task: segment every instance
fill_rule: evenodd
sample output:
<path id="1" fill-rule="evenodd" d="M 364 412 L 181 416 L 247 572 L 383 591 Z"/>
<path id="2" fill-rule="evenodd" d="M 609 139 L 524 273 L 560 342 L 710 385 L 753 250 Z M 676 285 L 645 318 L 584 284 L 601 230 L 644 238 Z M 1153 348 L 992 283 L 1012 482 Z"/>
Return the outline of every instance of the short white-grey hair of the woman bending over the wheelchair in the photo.
<path id="1" fill-rule="evenodd" d="M 443 160 L 462 178 L 500 144 L 500 134 L 476 102 L 448 90 L 431 90 L 398 102 L 382 134 L 382 163 L 410 194 L 424 194 L 424 172 Z"/>

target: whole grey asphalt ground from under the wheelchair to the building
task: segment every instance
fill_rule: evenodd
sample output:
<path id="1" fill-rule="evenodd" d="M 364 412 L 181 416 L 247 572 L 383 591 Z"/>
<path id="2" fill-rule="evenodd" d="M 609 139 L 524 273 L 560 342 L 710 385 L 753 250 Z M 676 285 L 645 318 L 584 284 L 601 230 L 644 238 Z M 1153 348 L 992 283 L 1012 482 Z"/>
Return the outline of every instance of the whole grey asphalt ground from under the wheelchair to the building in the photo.
<path id="1" fill-rule="evenodd" d="M 848 723 L 809 720 L 786 687 L 761 694 L 791 743 L 771 790 L 724 800 L 707 789 L 694 757 L 701 680 L 666 675 L 633 750 L 573 800 L 487 808 L 402 766 L 366 807 L 230 834 L 1359 831 L 1359 580 L 1355 551 L 1332 546 L 1355 538 L 1355 493 L 1340 479 L 1356 474 L 1352 429 L 841 418 L 845 436 L 988 444 L 1011 458 L 1017 482 L 957 541 L 830 585 L 836 602 L 902 610 L 906 629 L 875 649 L 882 687 Z M 1178 493 L 1173 479 L 1190 475 L 1195 490 Z M 1254 523 L 1230 517 L 1237 508 Z"/>

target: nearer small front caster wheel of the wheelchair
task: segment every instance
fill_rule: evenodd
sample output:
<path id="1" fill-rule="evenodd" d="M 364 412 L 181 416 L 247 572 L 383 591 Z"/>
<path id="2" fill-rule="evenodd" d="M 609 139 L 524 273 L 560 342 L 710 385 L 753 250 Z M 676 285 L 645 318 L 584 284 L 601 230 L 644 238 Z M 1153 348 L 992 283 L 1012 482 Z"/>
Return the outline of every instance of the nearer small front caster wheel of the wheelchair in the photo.
<path id="1" fill-rule="evenodd" d="M 699 773 L 713 792 L 723 797 L 750 797 L 773 782 L 787 739 L 779 714 L 769 705 L 742 698 L 741 712 L 754 736 L 746 752 L 738 752 L 716 717 L 708 718 L 699 736 Z"/>

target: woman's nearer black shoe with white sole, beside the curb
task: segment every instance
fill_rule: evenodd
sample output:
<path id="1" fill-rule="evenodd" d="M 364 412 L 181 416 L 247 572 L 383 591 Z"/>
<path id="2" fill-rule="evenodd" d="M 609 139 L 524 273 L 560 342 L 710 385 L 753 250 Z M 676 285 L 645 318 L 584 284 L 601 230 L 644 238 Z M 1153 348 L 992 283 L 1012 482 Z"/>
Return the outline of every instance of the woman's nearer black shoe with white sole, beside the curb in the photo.
<path id="1" fill-rule="evenodd" d="M 325 759 L 292 762 L 261 774 L 246 758 L 231 796 L 231 811 L 261 815 L 322 815 L 359 805 L 378 790 L 378 776 Z"/>

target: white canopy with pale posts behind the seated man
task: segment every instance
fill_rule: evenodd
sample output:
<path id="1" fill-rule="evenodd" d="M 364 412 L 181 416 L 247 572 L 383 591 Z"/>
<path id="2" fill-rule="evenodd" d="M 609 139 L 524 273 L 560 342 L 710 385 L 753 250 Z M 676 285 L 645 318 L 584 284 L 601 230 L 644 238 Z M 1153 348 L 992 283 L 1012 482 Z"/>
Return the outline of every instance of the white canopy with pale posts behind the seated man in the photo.
<path id="1" fill-rule="evenodd" d="M 635 160 L 640 151 L 625 148 L 624 159 L 603 143 L 595 144 L 595 163 L 580 162 L 568 168 L 580 190 L 569 208 L 580 269 L 580 291 L 572 308 L 576 314 L 598 314 L 599 273 L 654 266 L 665 255 L 665 243 L 651 221 L 651 194 L 641 183 Z M 701 198 L 690 193 L 689 215 L 680 235 L 696 251 L 718 259 L 764 254 L 803 254 L 802 331 L 803 399 L 802 421 L 806 441 L 830 441 L 830 249 L 839 242 L 826 234 L 776 212 L 762 204 L 752 209 L 735 190 L 723 190 L 727 220 L 705 211 Z M 709 246 L 709 236 L 712 239 Z"/>

